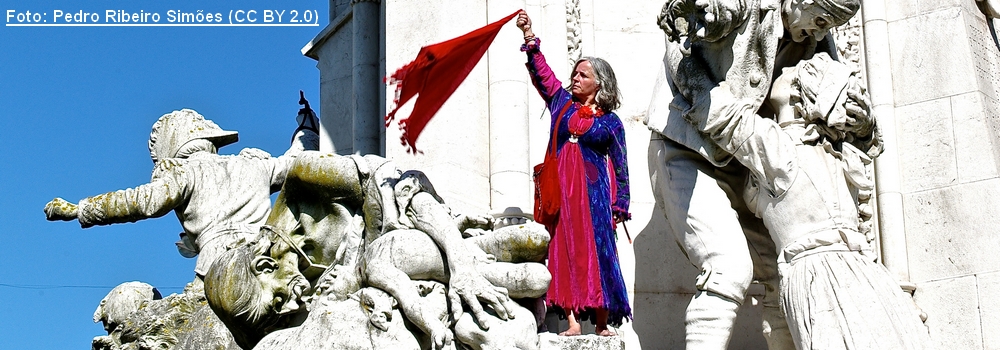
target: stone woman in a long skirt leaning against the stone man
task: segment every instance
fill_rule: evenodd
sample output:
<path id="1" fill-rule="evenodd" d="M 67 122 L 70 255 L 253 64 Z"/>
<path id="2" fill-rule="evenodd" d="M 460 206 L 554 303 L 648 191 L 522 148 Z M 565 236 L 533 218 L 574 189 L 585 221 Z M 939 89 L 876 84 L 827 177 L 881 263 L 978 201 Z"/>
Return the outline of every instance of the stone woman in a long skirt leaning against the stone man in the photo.
<path id="1" fill-rule="evenodd" d="M 778 246 L 797 348 L 922 349 L 917 311 L 859 228 L 858 192 L 873 186 L 864 166 L 882 149 L 854 72 L 817 54 L 775 81 L 776 120 L 743 101 L 691 122 L 750 170 L 744 198 Z M 712 97 L 731 99 L 728 84 Z"/>

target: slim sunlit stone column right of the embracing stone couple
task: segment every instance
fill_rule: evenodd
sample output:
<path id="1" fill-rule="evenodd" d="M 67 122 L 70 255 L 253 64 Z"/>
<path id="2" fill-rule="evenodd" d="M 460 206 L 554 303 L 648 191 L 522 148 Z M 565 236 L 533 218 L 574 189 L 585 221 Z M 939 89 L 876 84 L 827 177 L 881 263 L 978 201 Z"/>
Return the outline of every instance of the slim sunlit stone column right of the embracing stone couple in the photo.
<path id="1" fill-rule="evenodd" d="M 864 19 L 865 63 L 868 92 L 882 130 L 885 152 L 875 160 L 876 200 L 878 201 L 879 245 L 882 263 L 893 273 L 900 286 L 912 293 L 906 257 L 903 195 L 899 179 L 899 143 L 896 139 L 896 113 L 892 89 L 892 62 L 889 56 L 889 32 L 884 0 L 861 4 Z"/>

